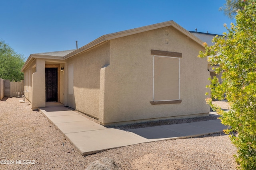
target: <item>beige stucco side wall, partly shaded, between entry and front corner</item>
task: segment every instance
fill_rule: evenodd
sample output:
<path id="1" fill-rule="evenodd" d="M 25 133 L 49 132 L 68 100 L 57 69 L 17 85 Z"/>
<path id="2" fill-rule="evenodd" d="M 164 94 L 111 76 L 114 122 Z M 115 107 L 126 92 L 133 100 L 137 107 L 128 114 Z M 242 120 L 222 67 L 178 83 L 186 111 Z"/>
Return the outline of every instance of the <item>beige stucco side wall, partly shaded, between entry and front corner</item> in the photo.
<path id="1" fill-rule="evenodd" d="M 67 106 L 98 118 L 100 69 L 109 63 L 109 50 L 109 42 L 106 42 L 67 59 L 66 68 L 69 64 L 74 66 L 74 94 L 68 93 L 68 77 L 66 82 Z"/>

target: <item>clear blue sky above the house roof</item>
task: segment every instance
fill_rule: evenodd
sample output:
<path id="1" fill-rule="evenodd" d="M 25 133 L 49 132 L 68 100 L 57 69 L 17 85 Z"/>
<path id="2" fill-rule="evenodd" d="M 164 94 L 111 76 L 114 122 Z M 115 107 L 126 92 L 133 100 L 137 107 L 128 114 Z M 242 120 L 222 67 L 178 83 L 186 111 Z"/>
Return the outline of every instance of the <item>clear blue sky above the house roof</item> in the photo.
<path id="1" fill-rule="evenodd" d="M 17 53 L 78 48 L 98 37 L 174 20 L 189 31 L 222 34 L 225 0 L 1 0 L 0 39 Z"/>

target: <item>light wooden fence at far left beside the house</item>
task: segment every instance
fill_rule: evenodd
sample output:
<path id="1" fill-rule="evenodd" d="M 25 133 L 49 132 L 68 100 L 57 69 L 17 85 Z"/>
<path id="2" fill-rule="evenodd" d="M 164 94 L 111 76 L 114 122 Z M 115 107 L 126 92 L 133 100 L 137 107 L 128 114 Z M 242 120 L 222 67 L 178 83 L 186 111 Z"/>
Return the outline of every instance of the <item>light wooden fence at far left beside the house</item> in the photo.
<path id="1" fill-rule="evenodd" d="M 4 97 L 22 97 L 24 92 L 24 80 L 10 82 L 0 78 L 0 100 Z"/>

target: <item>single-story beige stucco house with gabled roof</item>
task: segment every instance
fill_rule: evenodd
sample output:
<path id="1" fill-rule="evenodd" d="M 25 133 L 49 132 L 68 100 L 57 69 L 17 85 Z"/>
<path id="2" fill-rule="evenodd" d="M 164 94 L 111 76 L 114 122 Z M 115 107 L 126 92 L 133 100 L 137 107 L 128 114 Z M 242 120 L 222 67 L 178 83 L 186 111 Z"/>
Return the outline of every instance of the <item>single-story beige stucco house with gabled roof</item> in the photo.
<path id="1" fill-rule="evenodd" d="M 32 109 L 60 102 L 102 125 L 206 116 L 202 41 L 167 21 L 103 35 L 69 51 L 31 54 L 22 68 Z"/>

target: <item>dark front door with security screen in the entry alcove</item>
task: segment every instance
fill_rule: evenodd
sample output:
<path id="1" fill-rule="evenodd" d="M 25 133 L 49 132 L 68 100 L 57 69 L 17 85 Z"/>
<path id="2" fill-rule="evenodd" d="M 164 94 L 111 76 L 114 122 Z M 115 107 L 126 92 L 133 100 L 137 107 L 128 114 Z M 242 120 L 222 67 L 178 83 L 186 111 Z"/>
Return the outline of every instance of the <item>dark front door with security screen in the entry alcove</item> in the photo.
<path id="1" fill-rule="evenodd" d="M 46 102 L 58 101 L 58 68 L 45 68 Z"/>

